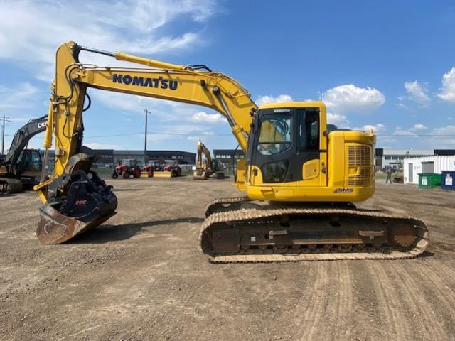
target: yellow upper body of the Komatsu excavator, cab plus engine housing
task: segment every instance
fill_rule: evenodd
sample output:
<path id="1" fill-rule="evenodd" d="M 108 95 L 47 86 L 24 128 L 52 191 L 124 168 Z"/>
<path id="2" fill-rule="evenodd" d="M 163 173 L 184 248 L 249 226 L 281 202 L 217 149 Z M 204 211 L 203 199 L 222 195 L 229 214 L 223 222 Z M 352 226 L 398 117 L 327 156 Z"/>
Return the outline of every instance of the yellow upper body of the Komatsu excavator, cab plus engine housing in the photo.
<path id="1" fill-rule="evenodd" d="M 245 157 L 252 200 L 356 202 L 375 189 L 375 136 L 328 129 L 322 102 L 265 104 L 254 115 Z"/>

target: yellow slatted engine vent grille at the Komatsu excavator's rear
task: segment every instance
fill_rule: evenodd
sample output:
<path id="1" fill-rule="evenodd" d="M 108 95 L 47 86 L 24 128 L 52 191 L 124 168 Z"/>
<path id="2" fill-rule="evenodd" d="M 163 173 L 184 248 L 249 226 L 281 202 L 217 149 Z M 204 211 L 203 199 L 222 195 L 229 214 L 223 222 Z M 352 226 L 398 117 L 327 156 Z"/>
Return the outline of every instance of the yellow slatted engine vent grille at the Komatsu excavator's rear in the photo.
<path id="1" fill-rule="evenodd" d="M 348 176 L 349 186 L 368 186 L 373 178 L 373 166 L 369 146 L 348 146 L 349 167 L 358 167 L 360 171 Z"/>

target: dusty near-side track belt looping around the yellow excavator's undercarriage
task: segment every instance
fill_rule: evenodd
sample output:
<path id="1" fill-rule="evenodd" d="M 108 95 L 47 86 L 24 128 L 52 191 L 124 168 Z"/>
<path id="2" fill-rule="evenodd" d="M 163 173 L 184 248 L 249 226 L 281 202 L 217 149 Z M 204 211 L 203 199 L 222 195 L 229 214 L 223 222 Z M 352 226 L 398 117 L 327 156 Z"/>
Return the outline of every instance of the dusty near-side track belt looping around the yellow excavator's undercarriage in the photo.
<path id="1" fill-rule="evenodd" d="M 232 198 L 232 201 L 238 202 L 240 198 Z M 258 218 L 267 218 L 279 215 L 349 215 L 358 217 L 378 217 L 393 220 L 405 220 L 416 230 L 416 242 L 411 249 L 400 251 L 385 247 L 383 249 L 374 249 L 372 251 L 362 252 L 333 252 L 325 251 L 321 253 L 320 249 L 316 249 L 314 253 L 309 252 L 296 254 L 294 250 L 288 249 L 286 254 L 247 254 L 245 251 L 240 251 L 242 254 L 234 255 L 217 255 L 213 254 L 208 249 L 208 242 L 205 240 L 208 237 L 208 229 L 213 224 L 225 223 L 229 227 L 231 222 L 241 222 L 255 220 Z M 422 254 L 429 244 L 429 232 L 424 222 L 413 217 L 404 217 L 390 215 L 385 212 L 356 210 L 356 209 L 340 209 L 340 208 L 285 208 L 285 209 L 265 209 L 265 210 L 236 210 L 231 212 L 217 212 L 211 214 L 205 219 L 200 229 L 200 245 L 203 253 L 208 255 L 208 259 L 212 263 L 255 263 L 255 262 L 274 262 L 274 261 L 336 261 L 336 260 L 358 260 L 358 259 L 412 259 Z M 294 252 L 294 254 L 293 254 Z"/>

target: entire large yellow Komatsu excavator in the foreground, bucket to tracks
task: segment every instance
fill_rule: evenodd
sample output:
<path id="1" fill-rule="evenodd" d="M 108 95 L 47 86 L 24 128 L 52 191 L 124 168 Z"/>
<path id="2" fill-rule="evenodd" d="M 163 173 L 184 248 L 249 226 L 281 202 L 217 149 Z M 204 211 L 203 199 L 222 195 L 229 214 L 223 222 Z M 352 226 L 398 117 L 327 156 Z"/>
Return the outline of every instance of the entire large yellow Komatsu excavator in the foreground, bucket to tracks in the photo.
<path id="1" fill-rule="evenodd" d="M 80 63 L 80 51 L 137 67 Z M 211 202 L 200 246 L 212 262 L 406 259 L 429 243 L 411 217 L 359 210 L 375 190 L 373 132 L 332 130 L 323 102 L 257 107 L 239 82 L 205 65 L 175 65 L 64 43 L 43 146 L 55 138 L 55 175 L 35 186 L 41 198 L 37 236 L 59 244 L 114 215 L 117 197 L 78 150 L 87 89 L 196 104 L 220 112 L 245 159 L 237 163 L 243 197 Z M 90 98 L 90 97 L 89 97 Z"/>

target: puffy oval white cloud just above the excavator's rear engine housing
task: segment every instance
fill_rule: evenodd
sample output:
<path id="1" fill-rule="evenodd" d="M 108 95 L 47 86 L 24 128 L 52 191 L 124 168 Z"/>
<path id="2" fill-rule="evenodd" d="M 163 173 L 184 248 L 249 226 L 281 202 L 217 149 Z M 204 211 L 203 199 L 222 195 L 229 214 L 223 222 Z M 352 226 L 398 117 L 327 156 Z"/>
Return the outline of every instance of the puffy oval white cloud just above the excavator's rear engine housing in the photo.
<path id="1" fill-rule="evenodd" d="M 385 96 L 372 87 L 339 85 L 323 93 L 323 102 L 333 112 L 371 112 L 385 103 Z"/>

